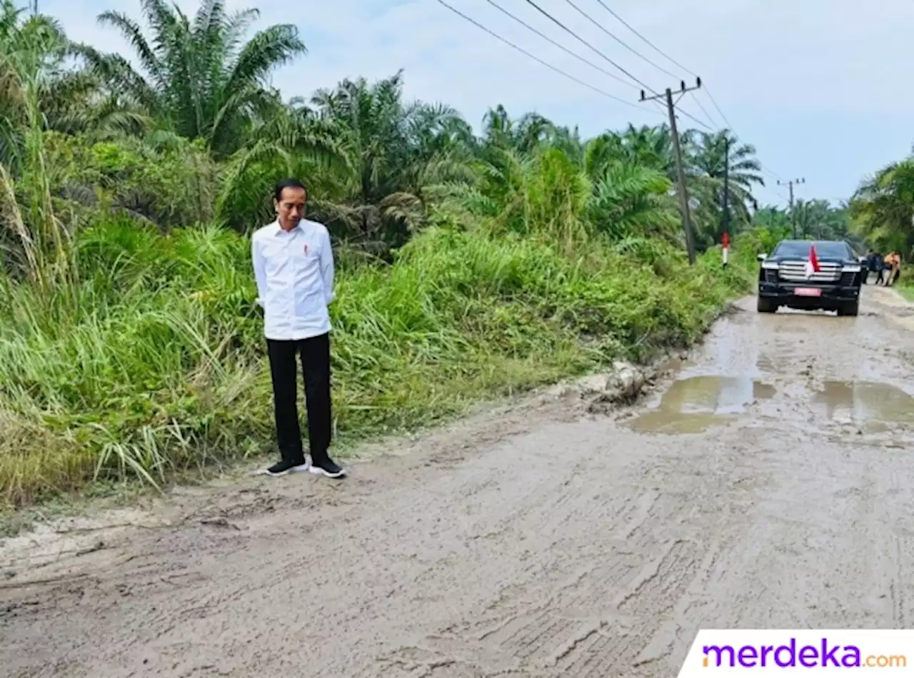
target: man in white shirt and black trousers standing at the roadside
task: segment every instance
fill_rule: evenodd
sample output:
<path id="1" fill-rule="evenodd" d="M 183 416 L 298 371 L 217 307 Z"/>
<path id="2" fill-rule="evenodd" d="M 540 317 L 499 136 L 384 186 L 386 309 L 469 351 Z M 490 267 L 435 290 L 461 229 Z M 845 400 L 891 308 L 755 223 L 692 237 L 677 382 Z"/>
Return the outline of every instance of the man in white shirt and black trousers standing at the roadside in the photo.
<path id="1" fill-rule="evenodd" d="M 323 224 L 304 217 L 307 191 L 283 179 L 273 203 L 276 221 L 251 238 L 251 259 L 263 307 L 270 355 L 276 438 L 282 461 L 265 472 L 282 476 L 312 471 L 340 478 L 345 471 L 327 453 L 331 440 L 330 314 L 334 299 L 334 254 Z M 305 459 L 298 424 L 296 355 L 302 359 L 311 464 Z"/>

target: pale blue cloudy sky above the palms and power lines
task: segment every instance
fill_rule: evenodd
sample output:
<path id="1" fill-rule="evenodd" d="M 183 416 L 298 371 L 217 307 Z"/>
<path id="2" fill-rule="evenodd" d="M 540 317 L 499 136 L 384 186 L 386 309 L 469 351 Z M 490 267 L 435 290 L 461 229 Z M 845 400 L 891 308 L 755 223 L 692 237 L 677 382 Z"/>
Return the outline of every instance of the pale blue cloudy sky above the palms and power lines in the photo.
<path id="1" fill-rule="evenodd" d="M 340 79 L 371 81 L 403 69 L 408 100 L 448 103 L 477 130 L 485 111 L 499 103 L 512 117 L 537 111 L 559 124 L 578 125 L 583 136 L 629 122 L 664 122 L 664 107 L 640 104 L 643 86 L 605 58 L 657 92 L 676 89 L 683 79 L 691 86 L 695 73 L 703 87 L 680 101 L 677 124 L 702 129 L 688 113 L 752 144 L 769 173 L 767 185 L 756 191 L 762 204 L 786 206 L 788 189 L 778 186 L 776 177 L 805 179 L 795 188 L 798 198 L 845 199 L 862 178 L 909 154 L 914 143 L 914 89 L 907 86 L 910 0 L 872 0 L 866 10 L 859 0 L 602 0 L 688 71 L 654 51 L 600 0 L 534 2 L 603 56 L 540 14 L 531 0 L 446 1 L 553 67 L 632 105 L 547 69 L 439 0 L 226 4 L 230 10 L 260 9 L 253 30 L 276 23 L 298 26 L 308 54 L 277 71 L 273 84 L 285 95 L 309 96 Z M 142 16 L 139 0 L 38 2 L 72 39 L 125 54 L 129 48 L 120 35 L 100 26 L 96 16 L 107 9 Z M 515 23 L 493 3 L 599 69 Z M 177 5 L 192 14 L 197 0 Z"/>

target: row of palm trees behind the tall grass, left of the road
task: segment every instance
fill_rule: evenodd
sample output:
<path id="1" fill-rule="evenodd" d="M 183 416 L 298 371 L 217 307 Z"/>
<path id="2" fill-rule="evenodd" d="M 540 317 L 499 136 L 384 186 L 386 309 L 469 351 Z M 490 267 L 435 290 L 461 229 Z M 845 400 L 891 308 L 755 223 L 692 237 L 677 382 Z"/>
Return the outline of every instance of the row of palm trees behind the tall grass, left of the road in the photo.
<path id="1" fill-rule="evenodd" d="M 513 230 L 542 213 L 568 232 L 681 238 L 665 124 L 583 139 L 499 105 L 477 134 L 445 104 L 405 101 L 401 73 L 286 101 L 269 76 L 306 54 L 295 26 L 249 35 L 258 11 L 229 14 L 221 0 L 203 0 L 194 16 L 164 0 L 141 5 L 141 17 L 98 17 L 132 46 L 132 63 L 0 2 L 0 178 L 5 244 L 20 268 L 40 239 L 36 221 L 48 221 L 42 206 L 56 207 L 64 229 L 100 209 L 164 229 L 249 229 L 271 217 L 265 196 L 282 175 L 307 179 L 316 216 L 367 249 L 399 247 L 434 219 L 433 206 Z M 682 137 L 704 249 L 720 235 L 727 143 L 733 228 L 752 220 L 764 179 L 754 147 L 732 132 Z M 547 181 L 558 188 L 544 196 Z M 24 207 L 16 217 L 14 203 Z"/>

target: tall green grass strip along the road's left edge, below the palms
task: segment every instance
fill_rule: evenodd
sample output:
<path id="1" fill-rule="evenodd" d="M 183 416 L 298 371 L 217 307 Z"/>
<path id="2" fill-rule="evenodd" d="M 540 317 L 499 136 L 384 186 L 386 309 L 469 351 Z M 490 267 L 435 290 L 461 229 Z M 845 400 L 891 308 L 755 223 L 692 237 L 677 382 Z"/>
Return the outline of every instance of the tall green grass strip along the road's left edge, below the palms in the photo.
<path id="1" fill-rule="evenodd" d="M 536 238 L 433 228 L 392 265 L 340 251 L 337 436 L 428 425 L 482 397 L 689 344 L 749 289 L 719 252 L 689 268 L 645 242 L 568 256 Z M 74 281 L 2 283 L 0 502 L 93 481 L 162 487 L 175 471 L 271 450 L 249 251 L 218 228 L 163 236 L 114 220 L 80 234 Z"/>

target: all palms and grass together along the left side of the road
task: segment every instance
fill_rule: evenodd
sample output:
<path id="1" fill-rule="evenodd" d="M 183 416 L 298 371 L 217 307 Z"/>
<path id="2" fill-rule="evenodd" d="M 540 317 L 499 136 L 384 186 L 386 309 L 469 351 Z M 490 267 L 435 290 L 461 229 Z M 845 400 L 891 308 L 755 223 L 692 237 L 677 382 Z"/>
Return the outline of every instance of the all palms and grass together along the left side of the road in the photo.
<path id="1" fill-rule="evenodd" d="M 754 149 L 686 131 L 685 258 L 665 126 L 591 139 L 496 106 L 482 132 L 404 101 L 400 74 L 307 101 L 266 83 L 304 55 L 254 10 L 108 12 L 121 55 L 0 0 L 0 503 L 272 447 L 250 230 L 271 185 L 310 187 L 335 240 L 337 438 L 696 340 L 751 289 Z M 734 265 L 719 241 L 732 141 Z M 758 214 L 754 216 L 758 219 Z M 762 235 L 762 237 L 767 237 Z M 739 241 L 738 238 L 738 241 Z"/>

